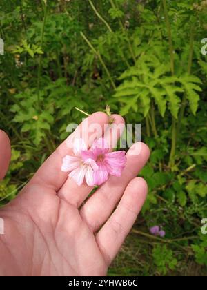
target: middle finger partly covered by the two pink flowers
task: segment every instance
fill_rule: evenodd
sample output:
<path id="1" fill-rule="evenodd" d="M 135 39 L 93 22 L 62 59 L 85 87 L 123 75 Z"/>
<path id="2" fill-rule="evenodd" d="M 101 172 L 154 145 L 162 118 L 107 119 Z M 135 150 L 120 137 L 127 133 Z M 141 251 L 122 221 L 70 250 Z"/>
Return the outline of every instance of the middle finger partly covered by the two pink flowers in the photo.
<path id="1" fill-rule="evenodd" d="M 108 141 L 111 149 L 116 146 L 117 140 L 124 130 L 124 119 L 119 115 L 112 115 L 112 117 L 114 123 L 104 132 L 104 137 Z M 60 198 L 63 198 L 63 200 L 66 200 L 68 203 L 79 208 L 91 191 L 92 186 L 88 186 L 86 182 L 83 182 L 81 186 L 78 186 L 72 178 L 68 177 L 59 190 L 58 195 Z"/>

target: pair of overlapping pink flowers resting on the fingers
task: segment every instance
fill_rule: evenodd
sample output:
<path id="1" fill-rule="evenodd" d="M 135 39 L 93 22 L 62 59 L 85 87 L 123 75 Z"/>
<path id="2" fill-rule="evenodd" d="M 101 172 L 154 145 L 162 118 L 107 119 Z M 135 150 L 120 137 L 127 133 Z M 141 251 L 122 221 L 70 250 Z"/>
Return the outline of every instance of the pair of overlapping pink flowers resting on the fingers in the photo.
<path id="1" fill-rule="evenodd" d="M 63 158 L 61 171 L 70 172 L 69 176 L 80 186 L 84 178 L 88 186 L 101 185 L 109 175 L 121 177 L 126 164 L 125 151 L 110 152 L 106 139 L 100 138 L 87 149 L 83 139 L 75 139 L 75 156 Z"/>

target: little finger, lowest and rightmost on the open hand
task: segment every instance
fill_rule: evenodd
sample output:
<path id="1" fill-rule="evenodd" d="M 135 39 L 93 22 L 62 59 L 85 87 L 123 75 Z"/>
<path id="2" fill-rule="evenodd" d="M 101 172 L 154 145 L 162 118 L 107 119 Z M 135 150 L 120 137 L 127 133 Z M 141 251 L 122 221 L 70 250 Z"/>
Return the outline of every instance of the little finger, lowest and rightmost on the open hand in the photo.
<path id="1" fill-rule="evenodd" d="M 97 233 L 97 244 L 108 265 L 117 255 L 121 244 L 132 228 L 146 200 L 147 190 L 147 184 L 141 177 L 132 180 L 128 184 L 117 209 Z"/>

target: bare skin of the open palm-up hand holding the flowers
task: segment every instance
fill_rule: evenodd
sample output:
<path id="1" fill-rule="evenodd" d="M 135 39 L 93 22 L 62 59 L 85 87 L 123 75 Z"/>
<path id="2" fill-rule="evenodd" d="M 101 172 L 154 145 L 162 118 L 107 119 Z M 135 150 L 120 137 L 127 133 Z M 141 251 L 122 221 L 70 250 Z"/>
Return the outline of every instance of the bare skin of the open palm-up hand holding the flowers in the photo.
<path id="1" fill-rule="evenodd" d="M 121 116 L 113 117 L 115 123 L 124 123 Z M 103 126 L 108 116 L 94 113 L 88 122 Z M 2 131 L 0 138 L 3 177 L 10 144 Z M 60 170 L 62 158 L 72 155 L 63 142 L 21 193 L 0 209 L 5 223 L 5 234 L 0 235 L 0 275 L 105 276 L 146 199 L 147 184 L 136 176 L 150 153 L 145 144 L 139 148 L 140 152 L 128 151 L 121 177 L 110 176 L 86 200 L 92 188 L 86 183 L 77 186 Z"/>

